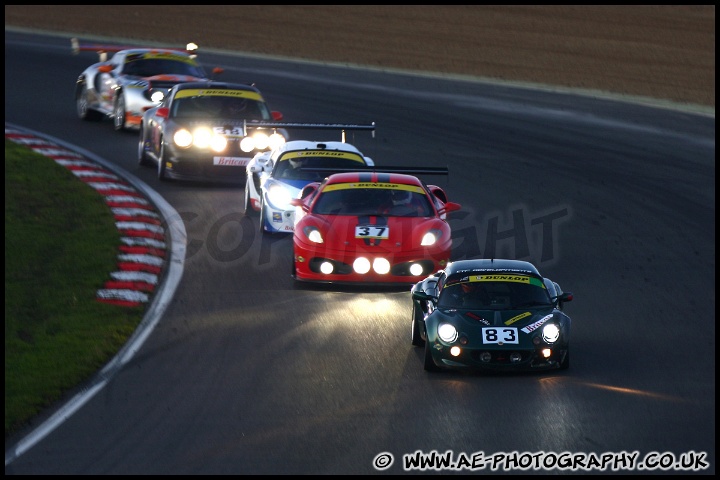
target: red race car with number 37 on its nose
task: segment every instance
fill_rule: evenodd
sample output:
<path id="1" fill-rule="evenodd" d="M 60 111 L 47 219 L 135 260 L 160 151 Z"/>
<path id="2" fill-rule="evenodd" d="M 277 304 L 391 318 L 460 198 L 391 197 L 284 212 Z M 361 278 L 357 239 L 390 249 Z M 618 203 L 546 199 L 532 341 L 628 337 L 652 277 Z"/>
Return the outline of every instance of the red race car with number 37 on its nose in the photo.
<path id="1" fill-rule="evenodd" d="M 450 261 L 446 217 L 461 206 L 408 173 L 447 169 L 397 169 L 335 173 L 303 188 L 292 200 L 295 280 L 413 284 Z"/>

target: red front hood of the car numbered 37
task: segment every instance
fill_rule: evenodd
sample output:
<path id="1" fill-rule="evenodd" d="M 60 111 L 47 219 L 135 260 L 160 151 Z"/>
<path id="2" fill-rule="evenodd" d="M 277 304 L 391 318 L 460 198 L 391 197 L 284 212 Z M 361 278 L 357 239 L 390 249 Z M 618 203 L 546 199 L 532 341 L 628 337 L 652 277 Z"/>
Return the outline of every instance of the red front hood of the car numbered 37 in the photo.
<path id="1" fill-rule="evenodd" d="M 432 229 L 447 237 L 441 237 L 441 240 L 450 240 L 447 225 L 437 218 L 331 215 L 311 218 L 308 223 L 320 229 L 326 246 L 349 251 L 394 252 L 426 248 L 420 246 L 420 241 Z M 359 226 L 370 227 L 366 236 L 356 236 Z M 383 235 L 387 238 L 378 238 Z"/>

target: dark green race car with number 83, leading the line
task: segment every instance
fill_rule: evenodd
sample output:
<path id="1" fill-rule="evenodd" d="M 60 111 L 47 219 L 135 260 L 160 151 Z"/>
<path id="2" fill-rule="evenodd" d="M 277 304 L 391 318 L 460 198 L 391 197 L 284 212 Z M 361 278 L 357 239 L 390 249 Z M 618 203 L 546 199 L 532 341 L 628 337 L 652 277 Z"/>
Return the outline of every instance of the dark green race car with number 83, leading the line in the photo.
<path id="1" fill-rule="evenodd" d="M 570 366 L 570 292 L 520 260 L 451 262 L 415 284 L 412 344 L 427 371 Z"/>

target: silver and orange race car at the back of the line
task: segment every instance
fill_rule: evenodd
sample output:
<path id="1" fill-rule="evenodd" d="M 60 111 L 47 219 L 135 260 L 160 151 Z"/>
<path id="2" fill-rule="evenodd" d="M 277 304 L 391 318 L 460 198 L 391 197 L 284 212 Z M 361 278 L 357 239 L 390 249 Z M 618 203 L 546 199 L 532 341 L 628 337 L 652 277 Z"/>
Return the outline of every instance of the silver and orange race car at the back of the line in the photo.
<path id="1" fill-rule="evenodd" d="M 174 85 L 209 80 L 197 61 L 197 45 L 185 50 L 81 44 L 72 39 L 72 50 L 95 51 L 99 62 L 87 67 L 75 84 L 75 105 L 82 120 L 110 118 L 115 130 L 137 130 L 142 115 L 160 104 Z M 108 52 L 114 55 L 108 59 Z M 222 72 L 213 69 L 213 75 Z"/>

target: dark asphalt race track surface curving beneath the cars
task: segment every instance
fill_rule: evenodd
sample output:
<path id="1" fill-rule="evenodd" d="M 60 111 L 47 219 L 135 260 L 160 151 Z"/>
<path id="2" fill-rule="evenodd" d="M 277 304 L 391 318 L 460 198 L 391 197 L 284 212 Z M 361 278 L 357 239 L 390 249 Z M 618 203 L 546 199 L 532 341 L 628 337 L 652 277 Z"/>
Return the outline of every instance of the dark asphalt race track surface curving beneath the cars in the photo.
<path id="1" fill-rule="evenodd" d="M 377 122 L 349 141 L 378 165 L 448 166 L 454 259 L 529 260 L 575 294 L 567 372 L 428 374 L 408 290 L 295 285 L 291 238 L 259 234 L 241 186 L 160 182 L 136 134 L 78 120 L 96 58 L 6 30 L 5 121 L 157 191 L 184 221 L 185 268 L 133 359 L 6 474 L 400 474 L 418 452 L 519 459 L 433 473 L 572 473 L 523 463 L 563 452 L 715 473 L 714 114 L 203 54 L 288 121 Z"/>

